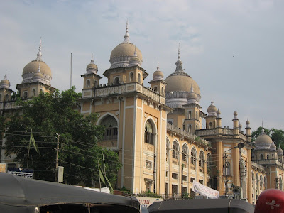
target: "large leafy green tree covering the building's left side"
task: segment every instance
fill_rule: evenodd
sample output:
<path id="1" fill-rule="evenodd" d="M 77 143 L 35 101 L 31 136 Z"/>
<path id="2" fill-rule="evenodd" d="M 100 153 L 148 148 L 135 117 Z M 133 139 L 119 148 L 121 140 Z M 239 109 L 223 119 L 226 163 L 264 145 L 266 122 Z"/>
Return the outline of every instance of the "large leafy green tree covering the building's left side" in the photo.
<path id="1" fill-rule="evenodd" d="M 23 168 L 33 168 L 35 178 L 55 180 L 55 156 L 59 138 L 59 165 L 64 166 L 65 182 L 75 185 L 84 182 L 92 186 L 99 182 L 98 162 L 102 153 L 106 162 L 107 178 L 116 182 L 121 168 L 117 153 L 97 146 L 102 139 L 104 126 L 95 125 L 97 114 L 80 114 L 75 88 L 52 94 L 40 93 L 25 102 L 18 99 L 21 110 L 6 121 L 6 155 L 16 154 Z M 40 155 L 31 146 L 28 154 L 30 132 L 33 129 Z M 28 160 L 29 159 L 29 160 Z"/>

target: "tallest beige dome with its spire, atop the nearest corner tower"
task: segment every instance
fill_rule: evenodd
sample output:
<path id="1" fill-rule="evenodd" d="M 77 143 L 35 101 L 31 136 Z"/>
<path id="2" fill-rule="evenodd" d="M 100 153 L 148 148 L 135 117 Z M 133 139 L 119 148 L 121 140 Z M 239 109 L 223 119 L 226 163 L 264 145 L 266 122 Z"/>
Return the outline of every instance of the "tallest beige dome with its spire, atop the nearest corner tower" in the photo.
<path id="1" fill-rule="evenodd" d="M 141 51 L 130 43 L 129 40 L 129 28 L 126 24 L 126 34 L 124 35 L 124 42 L 117 45 L 114 50 L 111 51 L 109 62 L 111 62 L 111 68 L 116 67 L 129 67 L 129 60 L 134 56 L 136 50 L 137 57 L 143 62 Z"/>

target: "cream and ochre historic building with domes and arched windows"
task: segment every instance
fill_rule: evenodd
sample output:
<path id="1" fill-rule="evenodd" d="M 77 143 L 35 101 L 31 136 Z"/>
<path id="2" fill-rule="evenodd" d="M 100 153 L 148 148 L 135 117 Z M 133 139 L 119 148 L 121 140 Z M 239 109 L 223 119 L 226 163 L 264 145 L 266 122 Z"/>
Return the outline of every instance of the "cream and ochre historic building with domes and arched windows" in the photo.
<path id="1" fill-rule="evenodd" d="M 104 72 L 92 56 L 81 75 L 78 102 L 82 114 L 97 113 L 97 124 L 105 127 L 99 146 L 119 153 L 122 168 L 116 187 L 170 197 L 195 195 L 196 181 L 220 195 L 238 192 L 237 196 L 251 203 L 262 190 L 275 187 L 275 181 L 283 190 L 283 150 L 264 132 L 253 145 L 250 122 L 246 121 L 243 131 L 236 111 L 231 127 L 222 126 L 221 110 L 213 100 L 207 113 L 202 111 L 200 87 L 183 70 L 180 48 L 175 71 L 165 77 L 158 63 L 151 70 L 150 87 L 144 85 L 148 73 L 141 51 L 130 42 L 128 24 L 124 41 L 110 52 L 110 67 Z M 23 68 L 22 77 L 16 87 L 22 99 L 54 91 L 52 72 L 42 60 L 41 41 L 37 58 Z M 99 83 L 102 77 L 107 84 Z M 9 88 L 5 75 L 0 82 L 2 115 L 18 110 Z M 3 152 L 1 162 L 16 165 L 13 156 L 5 158 Z"/>

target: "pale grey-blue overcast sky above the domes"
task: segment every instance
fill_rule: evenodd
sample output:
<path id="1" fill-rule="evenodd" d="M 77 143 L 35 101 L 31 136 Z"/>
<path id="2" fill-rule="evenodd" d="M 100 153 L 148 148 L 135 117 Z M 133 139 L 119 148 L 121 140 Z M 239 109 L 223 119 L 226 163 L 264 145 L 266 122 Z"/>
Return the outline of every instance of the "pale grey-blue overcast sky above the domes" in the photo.
<path id="1" fill-rule="evenodd" d="M 222 126 L 236 110 L 246 127 L 284 129 L 284 1 L 6 1 L 0 0 L 0 80 L 11 89 L 23 67 L 42 54 L 53 87 L 82 92 L 80 75 L 94 54 L 98 74 L 110 67 L 111 50 L 124 40 L 126 20 L 141 65 L 152 80 L 159 61 L 165 77 L 175 70 L 178 43 L 183 68 L 199 84 L 202 111 L 213 99 Z M 107 82 L 106 78 L 102 83 Z M 146 84 L 146 87 L 148 84 Z M 188 85 L 190 87 L 190 85 Z"/>

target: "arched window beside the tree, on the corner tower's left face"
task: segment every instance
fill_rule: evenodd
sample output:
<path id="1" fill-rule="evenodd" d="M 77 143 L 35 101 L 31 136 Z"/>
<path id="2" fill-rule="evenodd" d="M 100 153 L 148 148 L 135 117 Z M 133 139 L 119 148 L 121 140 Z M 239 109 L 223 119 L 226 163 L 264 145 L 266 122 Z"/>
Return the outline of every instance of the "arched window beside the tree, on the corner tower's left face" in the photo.
<path id="1" fill-rule="evenodd" d="M 101 124 L 102 126 L 104 126 L 106 128 L 106 130 L 104 131 L 104 140 L 114 140 L 117 139 L 117 121 L 116 119 L 114 119 L 113 116 L 106 116 Z"/>

